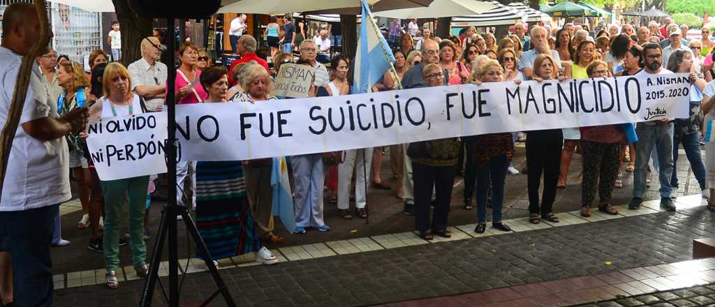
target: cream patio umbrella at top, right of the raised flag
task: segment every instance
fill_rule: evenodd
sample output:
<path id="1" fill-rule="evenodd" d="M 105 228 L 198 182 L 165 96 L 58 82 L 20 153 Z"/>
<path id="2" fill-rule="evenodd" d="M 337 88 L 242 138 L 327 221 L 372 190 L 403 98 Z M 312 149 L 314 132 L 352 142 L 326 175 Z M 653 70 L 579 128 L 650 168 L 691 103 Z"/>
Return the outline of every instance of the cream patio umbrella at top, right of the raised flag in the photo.
<path id="1" fill-rule="evenodd" d="M 484 1 L 475 0 L 435 0 L 427 7 L 417 7 L 413 9 L 394 9 L 390 11 L 375 11 L 375 16 L 413 19 L 413 18 L 433 18 L 451 17 L 481 14 L 496 6 Z"/>

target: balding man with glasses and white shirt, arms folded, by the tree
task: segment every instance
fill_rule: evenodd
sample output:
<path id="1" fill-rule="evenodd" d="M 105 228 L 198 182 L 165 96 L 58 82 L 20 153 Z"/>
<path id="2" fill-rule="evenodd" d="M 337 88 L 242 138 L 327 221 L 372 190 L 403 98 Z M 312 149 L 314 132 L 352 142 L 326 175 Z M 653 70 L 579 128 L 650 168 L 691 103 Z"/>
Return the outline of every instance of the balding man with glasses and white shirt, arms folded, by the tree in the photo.
<path id="1" fill-rule="evenodd" d="M 142 58 L 129 64 L 129 77 L 134 93 L 142 96 L 147 111 L 155 112 L 164 104 L 164 84 L 167 82 L 167 66 L 159 62 L 162 51 L 156 37 L 142 40 Z"/>

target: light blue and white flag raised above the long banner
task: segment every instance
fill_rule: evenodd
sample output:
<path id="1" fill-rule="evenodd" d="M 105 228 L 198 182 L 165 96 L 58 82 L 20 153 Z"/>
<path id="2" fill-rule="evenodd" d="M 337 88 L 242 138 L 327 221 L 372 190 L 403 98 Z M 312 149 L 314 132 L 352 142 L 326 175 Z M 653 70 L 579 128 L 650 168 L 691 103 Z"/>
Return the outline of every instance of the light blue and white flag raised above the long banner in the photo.
<path id="1" fill-rule="evenodd" d="M 388 42 L 375 24 L 368 2 L 365 0 L 360 2 L 363 4 L 363 16 L 358 52 L 355 56 L 355 81 L 352 84 L 352 94 L 368 93 L 395 62 L 393 51 L 390 50 Z"/>

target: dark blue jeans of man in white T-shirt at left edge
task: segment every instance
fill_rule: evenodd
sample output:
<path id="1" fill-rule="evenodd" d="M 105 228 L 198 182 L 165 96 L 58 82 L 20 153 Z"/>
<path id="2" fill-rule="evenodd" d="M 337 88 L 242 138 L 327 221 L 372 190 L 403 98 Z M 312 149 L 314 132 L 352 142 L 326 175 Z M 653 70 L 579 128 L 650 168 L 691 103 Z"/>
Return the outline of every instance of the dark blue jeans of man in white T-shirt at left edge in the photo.
<path id="1" fill-rule="evenodd" d="M 0 251 L 12 259 L 14 306 L 52 306 L 49 246 L 58 207 L 0 212 Z"/>

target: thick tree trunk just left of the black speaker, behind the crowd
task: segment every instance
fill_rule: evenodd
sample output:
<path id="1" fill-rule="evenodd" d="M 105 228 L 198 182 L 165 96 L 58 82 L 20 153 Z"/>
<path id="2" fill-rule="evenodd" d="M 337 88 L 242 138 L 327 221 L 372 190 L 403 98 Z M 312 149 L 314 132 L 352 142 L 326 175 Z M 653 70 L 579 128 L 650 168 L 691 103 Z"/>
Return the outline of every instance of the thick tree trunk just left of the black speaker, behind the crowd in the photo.
<path id="1" fill-rule="evenodd" d="M 142 57 L 142 39 L 152 36 L 152 19 L 140 18 L 129 8 L 129 1 L 112 0 L 114 11 L 117 12 L 117 21 L 122 27 L 122 64 L 129 64 Z M 104 39 L 104 38 L 102 38 Z M 173 41 L 173 37 L 167 41 Z"/>

